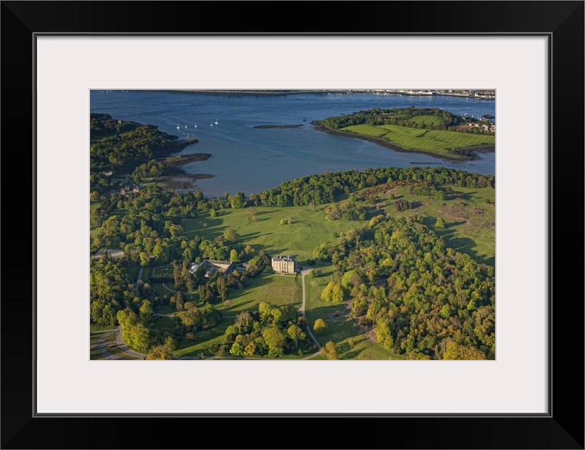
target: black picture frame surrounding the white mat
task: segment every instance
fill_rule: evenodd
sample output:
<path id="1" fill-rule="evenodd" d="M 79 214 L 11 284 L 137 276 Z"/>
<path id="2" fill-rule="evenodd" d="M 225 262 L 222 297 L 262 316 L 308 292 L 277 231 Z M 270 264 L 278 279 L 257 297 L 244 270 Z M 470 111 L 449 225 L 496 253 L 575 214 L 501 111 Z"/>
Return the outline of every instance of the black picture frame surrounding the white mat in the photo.
<path id="1" fill-rule="evenodd" d="M 200 20 L 176 14 L 196 7 Z M 175 5 L 175 6 L 177 6 Z M 564 248 L 577 249 L 582 236 L 565 210 L 567 195 L 582 193 L 584 125 L 584 1 L 384 1 L 279 2 L 207 1 L 2 1 L 1 141 L 4 143 L 4 242 L 22 240 L 18 255 L 3 259 L 1 311 L 1 448 L 202 448 L 201 436 L 217 436 L 214 448 L 402 448 L 402 449 L 584 449 L 584 302 L 583 267 L 565 259 Z M 326 9 L 327 14 L 320 11 Z M 377 13 L 373 13 L 376 11 Z M 383 13 L 378 13 L 378 12 Z M 423 12 L 423 13 L 421 13 Z M 549 104 L 549 410 L 534 416 L 55 416 L 34 413 L 34 345 L 39 339 L 33 318 L 41 286 L 34 283 L 35 36 L 51 34 L 506 34 L 548 36 L 551 80 Z M 577 117 L 567 127 L 567 117 Z M 555 127 L 556 125 L 556 127 Z M 16 133 L 15 133 L 16 131 Z M 13 145 L 18 136 L 20 146 Z M 569 155 L 567 156 L 565 155 Z M 30 159 L 29 159 L 30 158 Z M 569 161 L 567 161 L 569 160 Z M 555 164 L 556 163 L 556 164 Z M 31 178 L 11 182 L 14 167 Z M 32 167 L 27 172 L 25 167 Z M 529 182 L 529 167 L 519 176 Z M 26 182 L 22 180 L 25 179 Z M 557 181 L 553 191 L 553 180 Z M 18 188 L 16 187 L 18 186 Z M 572 201 L 581 201 L 575 195 Z M 32 203 L 29 203 L 29 199 Z M 547 199 L 543 199 L 546 201 Z M 555 200 L 557 200 L 555 202 Z M 554 208 L 556 206 L 556 208 Z M 556 212 L 556 221 L 553 221 Z M 32 213 L 32 217 L 31 217 Z M 581 217 L 581 214 L 579 214 Z M 25 219 L 26 218 L 26 219 Z M 30 219 L 29 219 L 30 218 Z M 565 222 L 567 221 L 567 222 Z M 31 224 L 30 235 L 26 226 Z M 557 225 L 556 227 L 554 225 Z M 581 221 L 579 221 L 581 224 Z M 8 231 L 6 231 L 8 230 Z M 10 233 L 10 234 L 8 234 Z M 28 236 L 33 236 L 32 240 Z M 556 239 L 555 239 L 556 238 Z M 567 239 L 572 239 L 567 243 Z M 30 242 L 30 246 L 29 246 Z M 556 243 L 553 247 L 553 243 Z M 579 239 L 579 244 L 581 240 Z M 6 255 L 6 253 L 5 253 Z M 556 257 L 556 258 L 555 258 Z M 556 283 L 553 266 L 557 262 Z M 32 270 L 31 270 L 32 269 Z M 33 278 L 31 278 L 31 274 Z M 567 294 L 567 283 L 579 288 Z M 577 298 L 575 298 L 577 297 Z M 553 302 L 553 299 L 555 300 Z M 555 308 L 553 307 L 553 304 Z M 18 319 L 16 319 L 18 318 Z M 522 326 L 519 326 L 522 328 Z M 577 359 L 567 357 L 567 352 Z M 519 349 L 518 351 L 522 351 Z M 118 385 L 117 388 L 124 388 Z M 473 393 L 465 393 L 473 394 Z M 294 399 L 291 399 L 294 401 Z M 323 422 L 325 420 L 325 422 Z M 123 428 L 127 432 L 119 432 Z M 287 428 L 289 430 L 287 431 Z M 281 439 L 269 436 L 277 430 Z M 307 430 L 322 439 L 311 441 Z M 72 431 L 77 430 L 77 432 Z M 86 436 L 79 440 L 79 430 Z M 264 430 L 264 432 L 263 432 Z M 304 431 L 304 432 L 303 432 Z M 265 434 L 266 433 L 266 434 Z M 290 434 L 289 434 L 290 433 Z M 296 437 L 295 437 L 296 436 Z M 309 436 L 309 437 L 307 437 Z"/>

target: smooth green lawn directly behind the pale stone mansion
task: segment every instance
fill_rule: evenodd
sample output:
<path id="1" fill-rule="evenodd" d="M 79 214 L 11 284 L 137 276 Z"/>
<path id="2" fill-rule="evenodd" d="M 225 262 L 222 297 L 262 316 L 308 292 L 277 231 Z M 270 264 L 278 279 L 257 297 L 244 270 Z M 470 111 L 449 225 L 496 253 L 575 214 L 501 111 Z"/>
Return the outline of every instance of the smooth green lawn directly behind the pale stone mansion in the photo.
<path id="1" fill-rule="evenodd" d="M 269 255 L 295 255 L 299 264 L 307 264 L 307 259 L 318 245 L 334 242 L 333 233 L 348 231 L 367 221 L 328 221 L 325 219 L 325 205 L 312 211 L 308 206 L 294 207 L 257 207 L 257 221 L 246 222 L 245 209 L 221 210 L 217 217 L 209 212 L 200 213 L 197 219 L 185 219 L 182 225 L 187 238 L 202 236 L 213 240 L 226 229 L 240 233 L 240 242 L 259 252 Z M 290 225 L 281 225 L 281 219 L 293 219 Z M 369 219 L 369 218 L 368 218 Z"/>

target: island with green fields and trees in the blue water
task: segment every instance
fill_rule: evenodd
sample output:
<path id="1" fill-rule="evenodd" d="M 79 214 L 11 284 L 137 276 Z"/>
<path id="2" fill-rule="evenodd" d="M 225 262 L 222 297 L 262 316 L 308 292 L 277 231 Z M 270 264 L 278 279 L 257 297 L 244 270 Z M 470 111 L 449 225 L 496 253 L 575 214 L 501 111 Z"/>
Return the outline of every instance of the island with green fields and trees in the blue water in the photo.
<path id="1" fill-rule="evenodd" d="M 396 151 L 425 153 L 446 160 L 473 160 L 494 151 L 496 125 L 438 108 L 374 108 L 311 122 L 319 131 L 378 143 Z"/>

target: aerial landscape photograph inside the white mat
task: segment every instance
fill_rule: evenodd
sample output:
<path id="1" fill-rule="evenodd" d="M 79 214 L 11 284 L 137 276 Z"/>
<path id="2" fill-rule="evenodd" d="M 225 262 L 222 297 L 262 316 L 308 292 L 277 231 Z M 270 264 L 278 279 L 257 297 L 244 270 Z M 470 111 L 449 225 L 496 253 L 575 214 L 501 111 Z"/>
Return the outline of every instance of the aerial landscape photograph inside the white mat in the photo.
<path id="1" fill-rule="evenodd" d="M 89 94 L 89 359 L 496 359 L 494 89 Z"/>

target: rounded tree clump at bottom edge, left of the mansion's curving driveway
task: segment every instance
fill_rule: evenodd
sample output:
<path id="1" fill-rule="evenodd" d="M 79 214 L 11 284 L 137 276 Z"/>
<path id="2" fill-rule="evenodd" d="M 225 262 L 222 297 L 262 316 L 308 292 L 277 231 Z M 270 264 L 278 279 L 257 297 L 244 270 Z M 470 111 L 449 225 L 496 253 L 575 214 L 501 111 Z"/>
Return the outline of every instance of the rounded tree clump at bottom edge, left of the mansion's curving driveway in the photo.
<path id="1" fill-rule="evenodd" d="M 275 307 L 260 302 L 258 311 L 242 311 L 226 330 L 224 342 L 212 344 L 217 356 L 279 358 L 299 352 L 299 343 L 311 348 L 307 323 L 291 305 Z"/>

